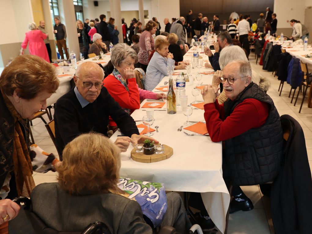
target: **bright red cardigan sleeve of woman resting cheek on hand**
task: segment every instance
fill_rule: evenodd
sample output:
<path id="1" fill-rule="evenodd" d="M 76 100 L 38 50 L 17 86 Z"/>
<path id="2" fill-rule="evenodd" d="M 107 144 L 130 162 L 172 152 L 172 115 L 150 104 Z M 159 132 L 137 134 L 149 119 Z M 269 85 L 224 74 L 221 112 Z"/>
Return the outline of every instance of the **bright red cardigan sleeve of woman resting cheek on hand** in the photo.
<path id="1" fill-rule="evenodd" d="M 128 79 L 127 81 L 129 92 L 113 75 L 109 75 L 105 78 L 104 86 L 121 107 L 128 108 L 130 110 L 139 109 L 140 96 L 135 78 Z"/>

